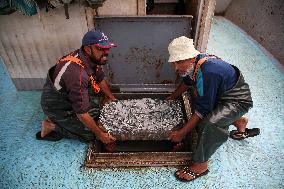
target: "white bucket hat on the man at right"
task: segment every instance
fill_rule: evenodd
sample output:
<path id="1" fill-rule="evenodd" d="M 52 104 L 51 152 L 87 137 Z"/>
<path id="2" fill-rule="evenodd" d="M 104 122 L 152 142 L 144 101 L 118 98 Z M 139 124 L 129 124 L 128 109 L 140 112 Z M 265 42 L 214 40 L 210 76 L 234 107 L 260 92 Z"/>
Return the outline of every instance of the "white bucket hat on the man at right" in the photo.
<path id="1" fill-rule="evenodd" d="M 200 52 L 194 48 L 193 40 L 185 36 L 175 38 L 169 44 L 168 50 L 170 54 L 169 62 L 194 58 L 200 54 Z"/>

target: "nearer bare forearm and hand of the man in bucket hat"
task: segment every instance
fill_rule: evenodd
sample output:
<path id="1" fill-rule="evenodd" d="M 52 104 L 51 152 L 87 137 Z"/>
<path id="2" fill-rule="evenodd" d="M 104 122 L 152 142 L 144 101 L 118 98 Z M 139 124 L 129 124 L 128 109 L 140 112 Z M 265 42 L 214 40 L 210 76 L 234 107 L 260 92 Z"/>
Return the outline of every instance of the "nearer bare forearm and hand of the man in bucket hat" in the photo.
<path id="1" fill-rule="evenodd" d="M 171 140 L 172 142 L 180 142 L 185 137 L 185 135 L 200 122 L 200 120 L 201 118 L 196 113 L 194 113 L 183 128 L 177 131 L 173 131 L 169 135 L 169 140 Z"/>

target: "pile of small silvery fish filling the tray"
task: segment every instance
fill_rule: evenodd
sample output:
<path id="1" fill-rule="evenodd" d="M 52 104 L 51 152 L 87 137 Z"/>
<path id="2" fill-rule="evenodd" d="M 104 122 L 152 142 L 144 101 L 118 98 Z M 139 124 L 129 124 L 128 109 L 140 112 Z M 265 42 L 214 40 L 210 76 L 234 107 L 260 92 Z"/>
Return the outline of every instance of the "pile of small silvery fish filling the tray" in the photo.
<path id="1" fill-rule="evenodd" d="M 179 101 L 151 98 L 119 100 L 103 107 L 100 122 L 120 139 L 160 139 L 183 123 L 183 114 Z"/>

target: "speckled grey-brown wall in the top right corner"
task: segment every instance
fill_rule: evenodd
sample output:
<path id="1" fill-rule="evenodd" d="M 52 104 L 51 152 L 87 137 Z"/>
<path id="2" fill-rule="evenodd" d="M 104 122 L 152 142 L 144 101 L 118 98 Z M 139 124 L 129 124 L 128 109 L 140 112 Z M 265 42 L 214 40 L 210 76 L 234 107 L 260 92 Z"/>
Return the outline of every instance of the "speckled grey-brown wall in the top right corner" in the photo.
<path id="1" fill-rule="evenodd" d="M 284 64 L 284 1 L 233 0 L 225 17 Z"/>

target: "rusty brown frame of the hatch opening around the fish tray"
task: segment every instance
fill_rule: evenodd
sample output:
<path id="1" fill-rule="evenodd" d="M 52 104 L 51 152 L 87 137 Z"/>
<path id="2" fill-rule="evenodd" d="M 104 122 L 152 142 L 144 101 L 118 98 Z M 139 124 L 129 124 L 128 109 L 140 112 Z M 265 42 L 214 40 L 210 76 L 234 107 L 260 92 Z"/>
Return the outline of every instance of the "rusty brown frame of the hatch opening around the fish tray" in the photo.
<path id="1" fill-rule="evenodd" d="M 191 94 L 182 95 L 187 119 L 192 116 Z M 191 150 L 187 152 L 101 152 L 99 141 L 91 142 L 85 160 L 86 168 L 129 168 L 129 167 L 178 167 L 188 165 L 197 137 L 194 132 L 186 137 Z"/>

